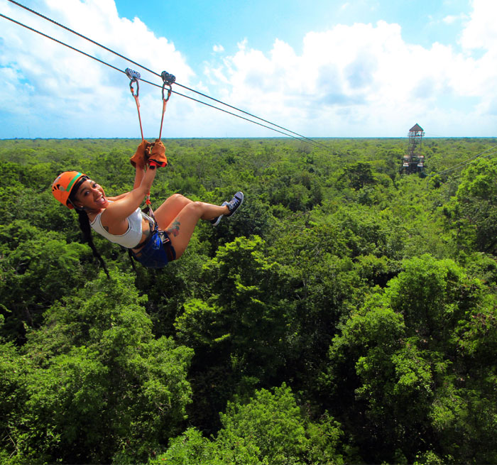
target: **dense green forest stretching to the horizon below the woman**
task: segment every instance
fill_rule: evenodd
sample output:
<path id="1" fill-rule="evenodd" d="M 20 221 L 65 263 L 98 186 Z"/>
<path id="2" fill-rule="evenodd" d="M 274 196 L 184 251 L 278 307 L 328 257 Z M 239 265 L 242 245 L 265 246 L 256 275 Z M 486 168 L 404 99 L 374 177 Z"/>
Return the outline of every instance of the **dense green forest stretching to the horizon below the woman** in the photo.
<path id="1" fill-rule="evenodd" d="M 497 463 L 497 139 L 165 140 L 154 205 L 244 205 L 107 278 L 50 186 L 138 142 L 0 141 L 2 464 Z"/>

